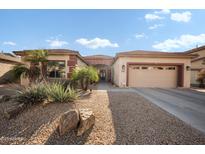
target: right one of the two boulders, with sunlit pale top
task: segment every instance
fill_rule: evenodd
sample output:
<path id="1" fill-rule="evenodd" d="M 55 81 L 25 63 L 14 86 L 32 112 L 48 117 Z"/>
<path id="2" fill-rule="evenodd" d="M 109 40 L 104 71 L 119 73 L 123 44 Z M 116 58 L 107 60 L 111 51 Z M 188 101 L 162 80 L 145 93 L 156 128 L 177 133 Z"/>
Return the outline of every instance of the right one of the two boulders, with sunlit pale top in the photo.
<path id="1" fill-rule="evenodd" d="M 95 116 L 93 111 L 89 109 L 79 109 L 80 112 L 80 124 L 77 131 L 77 136 L 83 135 L 95 124 Z"/>

